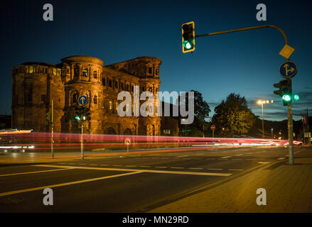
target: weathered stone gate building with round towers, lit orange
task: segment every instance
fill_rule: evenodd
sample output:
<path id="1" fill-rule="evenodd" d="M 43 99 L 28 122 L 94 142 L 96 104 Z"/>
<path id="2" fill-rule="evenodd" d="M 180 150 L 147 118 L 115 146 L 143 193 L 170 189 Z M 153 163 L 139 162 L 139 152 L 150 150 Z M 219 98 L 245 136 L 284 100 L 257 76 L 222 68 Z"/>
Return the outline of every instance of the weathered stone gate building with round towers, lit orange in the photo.
<path id="1" fill-rule="evenodd" d="M 159 91 L 159 66 L 156 57 L 137 57 L 133 60 L 104 66 L 97 57 L 65 57 L 58 65 L 26 62 L 12 67 L 12 127 L 33 128 L 48 132 L 45 114 L 54 103 L 54 131 L 77 133 L 75 118 L 77 99 L 88 97 L 91 121 L 85 123 L 86 133 L 160 135 L 158 116 L 124 116 L 117 114 L 119 92 L 133 96 L 134 86 L 140 93 Z M 133 101 L 132 101 L 133 104 Z"/>

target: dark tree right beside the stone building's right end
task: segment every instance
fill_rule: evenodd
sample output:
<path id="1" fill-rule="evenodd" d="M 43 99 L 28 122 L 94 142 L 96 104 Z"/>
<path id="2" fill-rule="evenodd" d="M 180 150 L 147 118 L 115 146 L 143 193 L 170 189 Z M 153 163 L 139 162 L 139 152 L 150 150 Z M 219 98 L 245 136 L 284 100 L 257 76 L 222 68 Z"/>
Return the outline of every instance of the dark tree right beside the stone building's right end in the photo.
<path id="1" fill-rule="evenodd" d="M 188 136 L 203 136 L 203 126 L 206 123 L 205 119 L 209 117 L 210 107 L 203 99 L 203 95 L 194 90 L 190 90 L 190 92 L 194 92 L 194 121 L 190 125 L 186 126 L 188 130 L 192 130 L 187 133 Z M 181 99 L 181 96 L 178 96 L 177 104 L 179 106 L 186 106 L 186 110 L 190 113 L 188 109 L 188 93 L 185 94 L 185 100 Z M 184 126 L 180 127 L 182 131 L 185 130 Z M 182 133 L 182 135 L 185 135 Z"/>

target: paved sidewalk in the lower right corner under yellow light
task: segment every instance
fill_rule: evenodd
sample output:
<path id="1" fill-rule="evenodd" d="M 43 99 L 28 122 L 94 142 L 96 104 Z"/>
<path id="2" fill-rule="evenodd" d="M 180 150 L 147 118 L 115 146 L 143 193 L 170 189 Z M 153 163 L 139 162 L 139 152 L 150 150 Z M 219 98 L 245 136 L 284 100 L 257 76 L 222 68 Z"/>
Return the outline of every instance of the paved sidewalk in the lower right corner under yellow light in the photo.
<path id="1" fill-rule="evenodd" d="M 295 165 L 287 161 L 265 165 L 149 212 L 312 212 L 312 149 L 295 155 Z M 258 188 L 266 189 L 265 206 L 257 205 Z"/>

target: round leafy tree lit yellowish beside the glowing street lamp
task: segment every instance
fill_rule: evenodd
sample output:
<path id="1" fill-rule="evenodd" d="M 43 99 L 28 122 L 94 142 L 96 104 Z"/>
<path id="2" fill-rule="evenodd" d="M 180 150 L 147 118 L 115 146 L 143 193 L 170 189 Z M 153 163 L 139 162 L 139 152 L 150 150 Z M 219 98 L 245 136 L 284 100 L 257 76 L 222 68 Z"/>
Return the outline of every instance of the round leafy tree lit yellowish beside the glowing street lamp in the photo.
<path id="1" fill-rule="evenodd" d="M 256 117 L 247 106 L 247 101 L 240 94 L 231 93 L 227 99 L 215 107 L 213 124 L 218 135 L 234 136 L 246 134 L 254 125 Z M 222 131 L 224 128 L 224 131 Z"/>

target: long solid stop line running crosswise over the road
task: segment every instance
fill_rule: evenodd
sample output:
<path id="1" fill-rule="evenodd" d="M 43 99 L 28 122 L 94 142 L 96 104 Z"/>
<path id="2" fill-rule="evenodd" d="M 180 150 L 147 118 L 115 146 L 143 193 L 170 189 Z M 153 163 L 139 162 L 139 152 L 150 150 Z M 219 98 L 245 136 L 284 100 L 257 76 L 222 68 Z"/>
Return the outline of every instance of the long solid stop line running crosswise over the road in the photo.
<path id="1" fill-rule="evenodd" d="M 38 167 L 63 167 L 68 168 L 72 166 L 64 165 L 33 165 Z M 202 176 L 219 176 L 229 177 L 232 173 L 221 173 L 221 172 L 189 172 L 189 171 L 170 171 L 170 170 L 138 170 L 138 169 L 119 169 L 119 168 L 102 168 L 102 167 L 72 167 L 78 170 L 109 170 L 109 171 L 127 171 L 127 172 L 153 172 L 153 173 L 167 173 L 173 175 L 202 175 Z"/>

